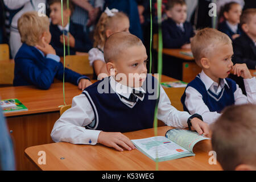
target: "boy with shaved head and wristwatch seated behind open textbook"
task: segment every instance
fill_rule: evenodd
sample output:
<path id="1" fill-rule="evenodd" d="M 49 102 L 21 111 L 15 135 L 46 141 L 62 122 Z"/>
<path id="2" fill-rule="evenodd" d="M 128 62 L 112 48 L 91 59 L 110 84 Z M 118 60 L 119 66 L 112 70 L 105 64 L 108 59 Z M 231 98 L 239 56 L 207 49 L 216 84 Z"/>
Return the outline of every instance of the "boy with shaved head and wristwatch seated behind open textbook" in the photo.
<path id="1" fill-rule="evenodd" d="M 61 115 L 52 129 L 55 142 L 101 143 L 118 151 L 132 150 L 133 143 L 121 133 L 152 128 L 157 104 L 158 119 L 166 125 L 192 125 L 199 134 L 209 135 L 208 125 L 199 119 L 199 114 L 176 110 L 162 87 L 159 97 L 155 94 L 158 81 L 147 76 L 146 48 L 137 36 L 127 32 L 109 36 L 104 57 L 111 76 L 73 98 L 72 108 Z"/>

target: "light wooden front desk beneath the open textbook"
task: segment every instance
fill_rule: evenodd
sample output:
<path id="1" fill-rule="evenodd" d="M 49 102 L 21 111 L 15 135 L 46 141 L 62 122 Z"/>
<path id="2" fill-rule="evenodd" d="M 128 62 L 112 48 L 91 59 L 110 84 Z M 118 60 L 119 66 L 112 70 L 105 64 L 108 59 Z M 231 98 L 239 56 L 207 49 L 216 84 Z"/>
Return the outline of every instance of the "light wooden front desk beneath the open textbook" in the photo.
<path id="1" fill-rule="evenodd" d="M 170 126 L 159 127 L 158 135 L 164 136 L 170 129 Z M 125 135 L 130 139 L 153 137 L 154 129 L 134 131 Z M 220 164 L 208 163 L 208 152 L 211 150 L 210 140 L 201 141 L 194 147 L 196 156 L 160 162 L 159 170 L 221 170 Z M 46 152 L 45 165 L 38 164 L 39 151 Z M 119 152 L 101 144 L 44 144 L 27 148 L 25 155 L 42 170 L 155 170 L 155 162 L 139 150 Z"/>

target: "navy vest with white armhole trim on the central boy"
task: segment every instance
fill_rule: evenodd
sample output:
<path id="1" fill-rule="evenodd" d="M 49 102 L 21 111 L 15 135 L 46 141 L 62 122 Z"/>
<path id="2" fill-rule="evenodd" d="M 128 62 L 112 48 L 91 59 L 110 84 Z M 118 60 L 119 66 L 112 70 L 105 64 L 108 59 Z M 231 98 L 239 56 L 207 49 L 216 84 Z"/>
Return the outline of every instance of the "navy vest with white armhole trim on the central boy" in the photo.
<path id="1" fill-rule="evenodd" d="M 152 90 L 148 89 L 148 80 L 152 82 Z M 144 87 L 144 84 L 147 86 Z M 90 125 L 85 126 L 86 129 L 102 130 L 106 132 L 129 132 L 153 127 L 155 106 L 158 103 L 159 97 L 148 99 L 155 94 L 158 81 L 147 76 L 142 88 L 146 91 L 143 101 L 138 100 L 131 107 L 121 101 L 121 97 L 112 90 L 109 77 L 85 88 L 83 94 L 87 97 L 92 106 L 95 119 Z M 98 86 L 102 89 L 109 90 L 109 93 L 99 93 Z M 150 85 L 150 86 L 151 86 Z M 108 88 L 105 88 L 108 86 Z M 152 91 L 154 90 L 154 93 Z M 111 93 L 110 93 L 111 91 Z"/>

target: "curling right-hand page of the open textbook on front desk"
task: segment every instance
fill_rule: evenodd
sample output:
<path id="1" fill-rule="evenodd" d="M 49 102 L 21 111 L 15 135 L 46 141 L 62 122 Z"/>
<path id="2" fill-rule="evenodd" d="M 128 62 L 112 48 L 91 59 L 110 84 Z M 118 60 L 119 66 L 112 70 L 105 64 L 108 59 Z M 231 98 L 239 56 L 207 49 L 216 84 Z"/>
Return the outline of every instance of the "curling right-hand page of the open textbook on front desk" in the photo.
<path id="1" fill-rule="evenodd" d="M 197 142 L 201 140 L 210 139 L 198 134 L 195 131 L 183 130 L 183 129 L 171 129 L 167 131 L 166 137 L 175 143 L 183 146 L 188 151 L 193 152 L 193 147 Z"/>

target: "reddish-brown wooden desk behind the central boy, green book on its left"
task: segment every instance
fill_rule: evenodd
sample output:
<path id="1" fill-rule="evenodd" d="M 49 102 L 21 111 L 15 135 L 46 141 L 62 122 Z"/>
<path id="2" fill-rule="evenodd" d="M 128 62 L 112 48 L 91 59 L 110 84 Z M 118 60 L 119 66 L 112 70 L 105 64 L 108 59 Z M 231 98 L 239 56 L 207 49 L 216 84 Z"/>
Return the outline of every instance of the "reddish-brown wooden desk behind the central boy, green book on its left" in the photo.
<path id="1" fill-rule="evenodd" d="M 96 82 L 97 80 L 92 80 Z M 174 78 L 162 76 L 162 81 L 176 81 Z M 180 97 L 184 88 L 168 88 L 167 95 L 172 105 L 182 110 Z M 72 104 L 72 98 L 82 91 L 76 85 L 65 82 L 65 102 Z M 6 113 L 10 135 L 14 141 L 16 169 L 36 169 L 24 156 L 24 150 L 30 146 L 52 143 L 51 131 L 54 123 L 59 119 L 59 106 L 64 105 L 63 84 L 56 82 L 49 90 L 36 89 L 34 86 L 16 86 L 0 88 L 1 99 L 18 98 L 28 111 Z"/>

